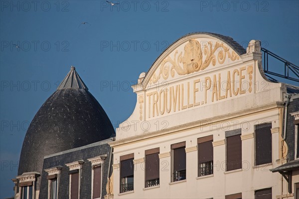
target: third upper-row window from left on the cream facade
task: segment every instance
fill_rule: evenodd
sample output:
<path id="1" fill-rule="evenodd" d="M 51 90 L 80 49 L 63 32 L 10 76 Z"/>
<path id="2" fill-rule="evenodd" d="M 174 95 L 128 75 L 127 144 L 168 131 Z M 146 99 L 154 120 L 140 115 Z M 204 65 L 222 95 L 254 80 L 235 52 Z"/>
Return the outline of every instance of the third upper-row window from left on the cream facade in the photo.
<path id="1" fill-rule="evenodd" d="M 172 157 L 173 157 L 173 173 L 172 182 L 181 181 L 186 179 L 186 152 L 185 142 L 180 142 L 171 145 Z"/>

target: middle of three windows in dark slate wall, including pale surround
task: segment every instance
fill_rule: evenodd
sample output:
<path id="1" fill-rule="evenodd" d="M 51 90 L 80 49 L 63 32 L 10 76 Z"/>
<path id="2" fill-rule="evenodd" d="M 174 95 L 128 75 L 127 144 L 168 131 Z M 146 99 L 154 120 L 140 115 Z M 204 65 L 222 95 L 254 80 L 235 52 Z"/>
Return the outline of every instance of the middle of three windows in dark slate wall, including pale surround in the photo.
<path id="1" fill-rule="evenodd" d="M 80 198 L 80 179 L 81 179 L 81 170 L 84 164 L 83 160 L 75 161 L 72 163 L 65 164 L 70 168 L 69 171 L 69 198 L 70 199 L 79 199 Z"/>

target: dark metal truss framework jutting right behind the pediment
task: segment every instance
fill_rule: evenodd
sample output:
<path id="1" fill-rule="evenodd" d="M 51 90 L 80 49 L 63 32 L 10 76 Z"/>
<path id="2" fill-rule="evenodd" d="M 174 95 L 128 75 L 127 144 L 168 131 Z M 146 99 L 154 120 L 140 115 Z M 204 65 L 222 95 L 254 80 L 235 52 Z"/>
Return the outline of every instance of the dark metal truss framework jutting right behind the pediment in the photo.
<path id="1" fill-rule="evenodd" d="M 261 50 L 264 52 L 264 62 L 263 62 L 263 64 L 264 64 L 264 72 L 266 73 L 265 74 L 266 76 L 274 79 L 273 77 L 267 75 L 267 74 L 270 74 L 270 75 L 275 75 L 277 77 L 282 77 L 282 78 L 285 78 L 285 79 L 289 79 L 289 80 L 299 82 L 299 67 L 297 65 L 287 61 L 286 59 L 278 56 L 277 54 L 274 54 L 273 52 L 267 50 L 266 48 L 261 48 Z M 285 66 L 284 74 L 280 74 L 280 73 L 273 72 L 273 71 L 269 70 L 269 55 L 270 55 L 270 57 L 274 57 L 274 58 L 276 58 L 276 59 L 278 59 L 278 60 L 280 60 L 281 62 L 284 63 L 284 66 Z M 276 80 L 276 79 L 274 79 L 274 80 Z"/>

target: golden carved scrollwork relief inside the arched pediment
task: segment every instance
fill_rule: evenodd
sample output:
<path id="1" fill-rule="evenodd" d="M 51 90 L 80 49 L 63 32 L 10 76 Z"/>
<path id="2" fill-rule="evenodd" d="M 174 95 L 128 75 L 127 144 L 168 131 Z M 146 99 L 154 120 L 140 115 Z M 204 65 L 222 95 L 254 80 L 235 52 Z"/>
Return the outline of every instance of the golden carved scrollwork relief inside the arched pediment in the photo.
<path id="1" fill-rule="evenodd" d="M 218 52 L 217 57 L 215 55 L 216 51 Z M 150 78 L 149 84 L 156 83 L 161 76 L 163 79 L 167 79 L 169 72 L 171 77 L 174 77 L 175 72 L 178 75 L 186 75 L 204 70 L 210 64 L 215 66 L 217 61 L 219 64 L 223 64 L 226 57 L 232 61 L 240 58 L 235 51 L 230 53 L 229 47 L 225 46 L 224 43 L 219 43 L 219 41 L 214 45 L 212 41 L 209 41 L 208 44 L 204 44 L 202 50 L 199 41 L 196 39 L 190 39 L 184 46 L 184 55 L 182 53 L 178 53 L 178 50 L 176 50 L 173 59 L 168 55 L 160 63 L 159 73 L 154 73 Z M 203 55 L 205 56 L 204 60 Z"/>

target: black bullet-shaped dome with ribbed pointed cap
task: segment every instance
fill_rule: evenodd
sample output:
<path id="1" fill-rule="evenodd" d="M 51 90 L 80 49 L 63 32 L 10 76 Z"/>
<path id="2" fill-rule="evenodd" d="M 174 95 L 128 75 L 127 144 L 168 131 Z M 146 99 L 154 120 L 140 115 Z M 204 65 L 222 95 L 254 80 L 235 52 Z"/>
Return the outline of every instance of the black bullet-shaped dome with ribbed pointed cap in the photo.
<path id="1" fill-rule="evenodd" d="M 27 130 L 18 175 L 42 173 L 43 158 L 110 138 L 113 126 L 75 67 L 40 107 Z"/>

